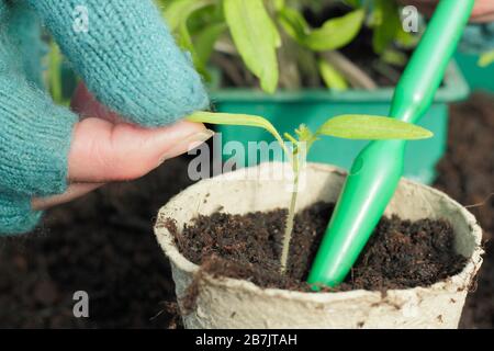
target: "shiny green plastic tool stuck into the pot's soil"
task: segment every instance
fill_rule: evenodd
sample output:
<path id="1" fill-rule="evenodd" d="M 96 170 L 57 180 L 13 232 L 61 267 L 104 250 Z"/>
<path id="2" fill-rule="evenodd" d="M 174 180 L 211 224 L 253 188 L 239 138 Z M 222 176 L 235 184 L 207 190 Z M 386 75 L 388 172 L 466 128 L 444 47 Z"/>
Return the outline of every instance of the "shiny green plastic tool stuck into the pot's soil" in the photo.
<path id="1" fill-rule="evenodd" d="M 391 117 L 417 123 L 429 109 L 473 10 L 474 0 L 442 0 L 407 65 Z M 308 283 L 315 290 L 341 283 L 384 213 L 403 174 L 404 140 L 369 144 L 353 161 Z"/>

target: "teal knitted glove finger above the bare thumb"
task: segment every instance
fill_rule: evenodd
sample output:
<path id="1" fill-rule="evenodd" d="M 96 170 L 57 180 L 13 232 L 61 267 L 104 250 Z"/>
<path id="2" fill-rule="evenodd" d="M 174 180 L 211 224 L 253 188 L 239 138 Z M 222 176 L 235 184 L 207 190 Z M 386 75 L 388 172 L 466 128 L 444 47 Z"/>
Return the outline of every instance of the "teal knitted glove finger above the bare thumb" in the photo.
<path id="1" fill-rule="evenodd" d="M 144 126 L 176 122 L 209 99 L 150 0 L 29 0 L 99 101 Z"/>

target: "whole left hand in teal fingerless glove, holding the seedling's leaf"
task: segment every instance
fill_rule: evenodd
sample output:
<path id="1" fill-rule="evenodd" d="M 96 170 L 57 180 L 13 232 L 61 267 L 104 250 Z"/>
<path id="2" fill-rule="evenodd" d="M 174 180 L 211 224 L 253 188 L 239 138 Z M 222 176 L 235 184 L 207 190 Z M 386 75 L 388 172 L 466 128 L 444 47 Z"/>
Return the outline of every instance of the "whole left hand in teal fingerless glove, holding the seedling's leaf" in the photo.
<path id="1" fill-rule="evenodd" d="M 27 231 L 37 210 L 144 176 L 211 136 L 200 124 L 177 123 L 209 100 L 151 1 L 26 3 L 0 0 L 1 234 Z M 80 7 L 89 21 L 76 31 Z M 79 121 L 36 87 L 33 67 L 40 63 L 33 58 L 41 55 L 31 42 L 40 34 L 37 18 L 88 89 L 115 113 L 98 113 L 101 105 L 82 86 L 74 100 L 86 116 Z"/>

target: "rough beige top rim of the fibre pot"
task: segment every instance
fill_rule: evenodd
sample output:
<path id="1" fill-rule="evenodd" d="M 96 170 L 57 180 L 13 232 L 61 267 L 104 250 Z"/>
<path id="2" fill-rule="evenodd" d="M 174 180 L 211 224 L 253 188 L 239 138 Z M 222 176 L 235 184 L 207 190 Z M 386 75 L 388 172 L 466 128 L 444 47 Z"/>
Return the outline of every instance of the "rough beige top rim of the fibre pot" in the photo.
<path id="1" fill-rule="evenodd" d="M 262 163 L 258 167 L 263 168 L 266 165 L 272 165 L 272 163 L 281 163 L 284 166 L 283 162 L 267 162 Z M 324 171 L 324 172 L 334 172 L 338 173 L 340 176 L 346 176 L 347 172 L 340 168 L 330 166 L 330 165 L 323 165 L 323 163 L 311 163 L 307 162 L 307 168 L 312 168 L 315 170 Z M 234 173 L 237 173 L 235 176 L 240 176 L 246 169 L 240 169 L 235 171 Z M 172 206 L 173 202 L 177 200 L 180 200 L 182 196 L 186 195 L 187 192 L 194 190 L 197 188 L 203 188 L 204 185 L 207 185 L 211 182 L 216 182 L 221 180 L 223 177 L 231 177 L 229 180 L 232 181 L 232 173 L 228 174 L 222 174 L 218 177 L 214 177 L 211 179 L 202 180 L 189 188 L 187 188 L 184 191 L 179 193 L 178 195 L 173 196 L 165 206 L 162 206 L 159 210 L 158 219 L 155 225 L 155 234 L 157 237 L 157 240 L 159 245 L 161 246 L 161 249 L 164 250 L 165 254 L 170 260 L 171 264 L 175 264 L 179 270 L 184 271 L 190 274 L 195 274 L 199 272 L 200 267 L 191 261 L 189 261 L 184 256 L 180 253 L 177 246 L 175 245 L 175 239 L 172 234 L 165 227 L 159 225 L 160 218 L 169 218 L 169 216 L 164 215 L 165 213 L 169 213 L 172 211 L 177 211 Z M 242 180 L 242 178 L 238 178 L 238 180 Z M 426 186 L 423 184 L 419 184 L 417 182 L 414 182 L 412 180 L 402 179 L 401 182 L 418 185 L 420 188 L 426 188 L 427 191 L 438 194 L 438 195 L 446 195 L 439 190 L 433 189 L 430 186 Z M 475 238 L 475 248 L 470 257 L 469 262 L 465 264 L 463 270 L 459 272 L 456 275 L 449 276 L 446 280 L 442 280 L 440 282 L 437 282 L 428 287 L 424 286 L 416 286 L 416 287 L 409 287 L 409 288 L 398 288 L 398 290 L 388 290 L 386 295 L 406 295 L 409 294 L 420 294 L 426 292 L 436 292 L 440 293 L 444 291 L 453 291 L 458 292 L 459 290 L 469 288 L 469 285 L 461 285 L 463 282 L 471 282 L 471 279 L 476 274 L 480 265 L 482 264 L 482 254 L 484 253 L 484 250 L 481 247 L 482 242 L 482 229 L 479 226 L 475 217 L 461 204 L 459 204 L 453 199 L 449 197 L 448 195 L 447 200 L 450 201 L 458 210 L 460 211 L 461 215 L 465 218 L 469 227 L 471 228 L 471 234 Z M 203 279 L 207 281 L 209 284 L 212 284 L 217 287 L 227 287 L 229 290 L 243 290 L 250 292 L 256 295 L 265 295 L 270 297 L 277 297 L 277 298 L 283 298 L 283 299 L 291 299 L 291 301 L 300 301 L 300 302 L 311 302 L 311 303 L 322 303 L 326 304 L 329 302 L 337 302 L 337 301 L 348 301 L 353 298 L 367 298 L 367 299 L 375 299 L 381 298 L 382 293 L 380 291 L 367 291 L 367 290 L 353 290 L 353 291 L 347 291 L 347 292 L 297 292 L 297 291 L 289 291 L 289 290 L 282 290 L 282 288 L 273 288 L 273 287 L 260 287 L 252 282 L 246 281 L 246 280 L 239 280 L 234 278 L 226 278 L 226 276 L 213 276 L 212 274 L 209 274 L 206 272 L 203 272 Z"/>

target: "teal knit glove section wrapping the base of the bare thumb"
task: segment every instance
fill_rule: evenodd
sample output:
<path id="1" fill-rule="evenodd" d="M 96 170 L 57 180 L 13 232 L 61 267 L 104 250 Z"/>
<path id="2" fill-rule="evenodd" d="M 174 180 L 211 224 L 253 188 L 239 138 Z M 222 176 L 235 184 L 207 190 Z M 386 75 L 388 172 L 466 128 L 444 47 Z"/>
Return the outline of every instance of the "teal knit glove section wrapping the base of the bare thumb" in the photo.
<path id="1" fill-rule="evenodd" d="M 77 121 L 41 90 L 0 72 L 0 189 L 27 196 L 65 192 Z"/>

